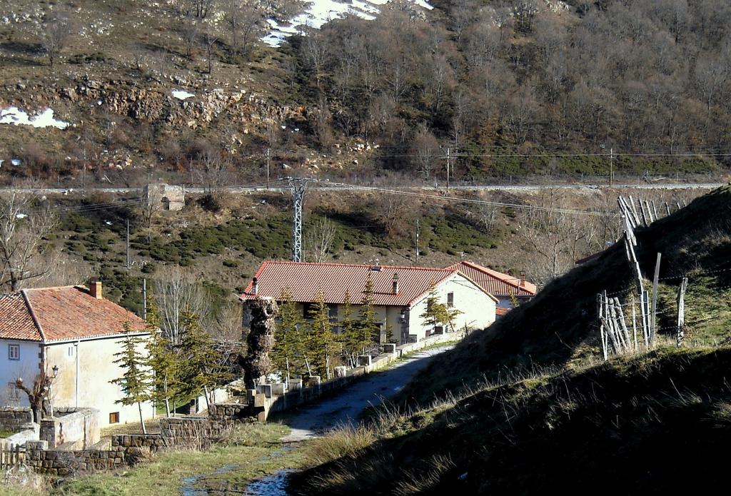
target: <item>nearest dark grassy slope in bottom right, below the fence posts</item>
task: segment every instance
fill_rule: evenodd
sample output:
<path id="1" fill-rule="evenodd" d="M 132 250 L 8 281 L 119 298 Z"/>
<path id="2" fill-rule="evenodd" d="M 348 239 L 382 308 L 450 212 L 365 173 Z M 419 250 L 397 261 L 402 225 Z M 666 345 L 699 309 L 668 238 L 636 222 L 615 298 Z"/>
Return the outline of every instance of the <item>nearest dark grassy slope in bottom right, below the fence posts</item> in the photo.
<path id="1" fill-rule="evenodd" d="M 727 347 L 664 349 L 482 386 L 390 416 L 365 449 L 295 478 L 295 494 L 708 490 L 725 481 L 730 359 Z"/>

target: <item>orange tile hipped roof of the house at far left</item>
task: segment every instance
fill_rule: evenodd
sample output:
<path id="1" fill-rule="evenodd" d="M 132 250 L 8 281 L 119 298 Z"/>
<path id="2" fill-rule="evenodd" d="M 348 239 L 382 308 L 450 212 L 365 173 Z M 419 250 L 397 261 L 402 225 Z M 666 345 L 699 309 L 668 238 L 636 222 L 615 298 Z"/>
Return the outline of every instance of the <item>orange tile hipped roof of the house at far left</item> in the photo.
<path id="1" fill-rule="evenodd" d="M 21 305 L 22 303 L 22 305 Z M 57 341 L 105 337 L 145 321 L 108 299 L 96 299 L 83 286 L 23 289 L 0 297 L 0 338 Z"/>

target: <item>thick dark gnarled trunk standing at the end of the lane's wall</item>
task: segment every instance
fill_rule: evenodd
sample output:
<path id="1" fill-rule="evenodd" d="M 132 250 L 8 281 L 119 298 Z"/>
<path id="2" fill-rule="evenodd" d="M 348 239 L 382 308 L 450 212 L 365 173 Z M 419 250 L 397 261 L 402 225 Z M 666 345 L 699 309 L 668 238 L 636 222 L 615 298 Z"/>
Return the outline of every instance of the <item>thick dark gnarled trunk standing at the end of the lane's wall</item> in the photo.
<path id="1" fill-rule="evenodd" d="M 275 318 L 279 308 L 273 298 L 257 298 L 250 303 L 251 331 L 246 337 L 249 351 L 240 360 L 246 387 L 254 389 L 256 381 L 271 368 L 269 352 L 274 346 Z"/>

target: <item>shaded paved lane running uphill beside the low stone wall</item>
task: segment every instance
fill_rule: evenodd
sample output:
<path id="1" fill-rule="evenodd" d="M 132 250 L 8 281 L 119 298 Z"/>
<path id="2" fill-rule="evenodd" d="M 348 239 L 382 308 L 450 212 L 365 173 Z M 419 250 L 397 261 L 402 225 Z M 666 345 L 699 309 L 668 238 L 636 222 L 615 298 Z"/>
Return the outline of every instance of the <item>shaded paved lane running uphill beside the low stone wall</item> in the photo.
<path id="1" fill-rule="evenodd" d="M 336 396 L 276 417 L 292 428 L 291 434 L 281 440 L 284 442 L 303 440 L 339 424 L 357 422 L 358 416 L 365 408 L 380 405 L 385 398 L 401 390 L 428 362 L 452 347 L 453 345 L 446 345 L 417 351 L 408 358 L 395 362 L 383 372 L 369 374 Z"/>

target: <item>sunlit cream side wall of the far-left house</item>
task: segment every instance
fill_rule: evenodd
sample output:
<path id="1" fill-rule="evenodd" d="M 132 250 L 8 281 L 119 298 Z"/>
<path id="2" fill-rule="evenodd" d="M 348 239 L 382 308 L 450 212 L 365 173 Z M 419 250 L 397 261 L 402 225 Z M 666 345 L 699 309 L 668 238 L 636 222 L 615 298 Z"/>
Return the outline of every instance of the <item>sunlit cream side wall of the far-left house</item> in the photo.
<path id="1" fill-rule="evenodd" d="M 110 413 L 119 412 L 119 422 L 126 424 L 140 421 L 137 405 L 115 403 L 123 397 L 120 386 L 110 384 L 124 374 L 124 369 L 114 363 L 115 353 L 121 351 L 121 337 L 78 340 L 47 346 L 46 364 L 49 369 L 58 367 L 58 377 L 51 388 L 54 408 L 96 408 L 99 411 L 99 427 L 110 424 Z M 140 351 L 145 353 L 143 344 Z M 151 419 L 154 406 L 143 403 L 143 416 Z"/>

